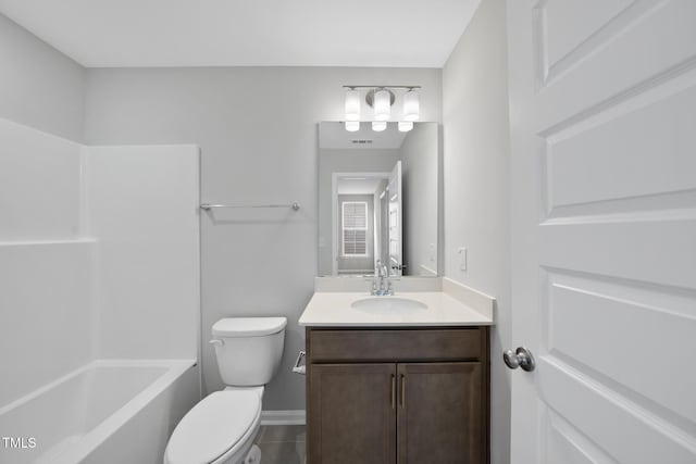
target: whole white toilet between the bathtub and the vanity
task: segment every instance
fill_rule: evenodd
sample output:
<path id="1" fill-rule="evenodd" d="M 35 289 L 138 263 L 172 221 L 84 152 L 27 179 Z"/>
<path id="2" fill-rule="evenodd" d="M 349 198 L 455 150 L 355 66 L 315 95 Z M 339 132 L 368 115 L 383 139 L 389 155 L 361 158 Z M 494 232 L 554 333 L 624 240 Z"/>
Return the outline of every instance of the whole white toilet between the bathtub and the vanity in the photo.
<path id="1" fill-rule="evenodd" d="M 252 446 L 263 389 L 281 364 L 285 317 L 228 317 L 212 327 L 217 368 L 227 386 L 196 404 L 178 423 L 164 464 L 258 464 Z"/>

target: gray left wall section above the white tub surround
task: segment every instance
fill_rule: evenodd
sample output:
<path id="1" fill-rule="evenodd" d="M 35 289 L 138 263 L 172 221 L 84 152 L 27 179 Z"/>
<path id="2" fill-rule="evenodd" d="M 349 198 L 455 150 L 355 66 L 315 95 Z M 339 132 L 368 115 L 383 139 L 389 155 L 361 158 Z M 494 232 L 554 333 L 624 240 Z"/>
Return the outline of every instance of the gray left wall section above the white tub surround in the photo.
<path id="1" fill-rule="evenodd" d="M 0 14 L 0 117 L 83 138 L 85 70 Z"/>

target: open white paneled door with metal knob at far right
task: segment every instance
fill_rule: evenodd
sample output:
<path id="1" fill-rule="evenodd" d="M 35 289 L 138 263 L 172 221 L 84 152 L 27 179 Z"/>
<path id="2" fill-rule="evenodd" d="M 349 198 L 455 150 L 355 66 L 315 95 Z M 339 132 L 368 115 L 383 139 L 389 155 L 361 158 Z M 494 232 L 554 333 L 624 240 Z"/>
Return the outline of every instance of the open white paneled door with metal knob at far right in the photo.
<path id="1" fill-rule="evenodd" d="M 696 1 L 508 0 L 513 464 L 696 463 Z"/>

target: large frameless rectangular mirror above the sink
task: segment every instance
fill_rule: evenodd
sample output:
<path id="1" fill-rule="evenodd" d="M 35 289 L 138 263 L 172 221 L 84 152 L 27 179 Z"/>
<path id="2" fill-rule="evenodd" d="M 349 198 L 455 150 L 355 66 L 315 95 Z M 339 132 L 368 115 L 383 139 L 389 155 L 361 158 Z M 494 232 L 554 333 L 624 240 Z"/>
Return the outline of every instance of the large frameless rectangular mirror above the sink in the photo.
<path id="1" fill-rule="evenodd" d="M 319 275 L 437 276 L 437 123 L 319 125 Z"/>

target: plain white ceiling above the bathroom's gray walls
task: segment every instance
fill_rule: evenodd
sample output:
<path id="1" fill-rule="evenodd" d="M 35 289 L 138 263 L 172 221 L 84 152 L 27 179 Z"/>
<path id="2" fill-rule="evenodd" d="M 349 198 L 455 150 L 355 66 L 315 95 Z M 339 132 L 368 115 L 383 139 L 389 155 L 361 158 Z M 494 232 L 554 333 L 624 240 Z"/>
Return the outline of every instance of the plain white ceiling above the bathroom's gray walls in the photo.
<path id="1" fill-rule="evenodd" d="M 480 0 L 0 0 L 88 67 L 442 67 Z"/>

